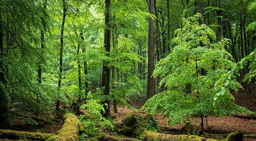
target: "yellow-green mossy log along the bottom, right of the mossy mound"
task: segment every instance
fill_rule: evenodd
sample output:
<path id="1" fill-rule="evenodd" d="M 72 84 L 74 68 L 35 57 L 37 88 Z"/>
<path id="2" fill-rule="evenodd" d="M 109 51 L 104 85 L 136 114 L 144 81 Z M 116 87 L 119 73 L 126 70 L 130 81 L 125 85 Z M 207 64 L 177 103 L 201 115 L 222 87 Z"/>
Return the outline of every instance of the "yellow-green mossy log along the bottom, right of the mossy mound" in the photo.
<path id="1" fill-rule="evenodd" d="M 195 135 L 169 135 L 151 131 L 144 131 L 141 137 L 144 138 L 144 141 L 217 141 L 210 138 L 203 138 Z"/>

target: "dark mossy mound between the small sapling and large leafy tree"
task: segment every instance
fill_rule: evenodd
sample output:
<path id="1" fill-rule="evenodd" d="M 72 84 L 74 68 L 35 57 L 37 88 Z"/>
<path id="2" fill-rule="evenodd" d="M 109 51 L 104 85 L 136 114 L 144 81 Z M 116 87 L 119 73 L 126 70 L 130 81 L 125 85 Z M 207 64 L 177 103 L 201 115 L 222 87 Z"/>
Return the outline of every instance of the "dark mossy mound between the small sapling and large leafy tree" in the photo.
<path id="1" fill-rule="evenodd" d="M 118 133 L 130 137 L 137 137 L 145 130 L 162 132 L 153 115 L 142 110 L 130 113 L 121 122 L 116 123 L 116 127 Z"/>

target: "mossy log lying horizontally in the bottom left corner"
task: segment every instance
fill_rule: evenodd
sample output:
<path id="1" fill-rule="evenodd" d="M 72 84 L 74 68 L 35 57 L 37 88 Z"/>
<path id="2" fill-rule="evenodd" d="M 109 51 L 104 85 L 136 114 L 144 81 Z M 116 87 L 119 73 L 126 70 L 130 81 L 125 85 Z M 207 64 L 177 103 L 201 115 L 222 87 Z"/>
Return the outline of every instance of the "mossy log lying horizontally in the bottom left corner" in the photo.
<path id="1" fill-rule="evenodd" d="M 0 129 L 0 138 L 8 138 L 13 140 L 18 140 L 21 138 L 26 138 L 27 140 L 37 140 L 45 141 L 50 136 L 54 134 L 50 133 L 39 133 L 39 132 L 23 132 L 23 131 L 13 131 L 13 130 L 3 130 Z"/>

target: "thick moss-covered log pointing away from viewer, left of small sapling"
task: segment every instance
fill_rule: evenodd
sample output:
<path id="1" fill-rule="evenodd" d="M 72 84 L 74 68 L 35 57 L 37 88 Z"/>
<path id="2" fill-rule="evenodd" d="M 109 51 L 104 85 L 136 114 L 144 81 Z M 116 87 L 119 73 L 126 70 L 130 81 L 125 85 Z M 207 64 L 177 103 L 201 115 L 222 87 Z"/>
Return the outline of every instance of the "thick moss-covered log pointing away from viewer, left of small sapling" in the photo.
<path id="1" fill-rule="evenodd" d="M 78 141 L 79 126 L 76 115 L 69 113 L 64 115 L 65 121 L 62 128 L 48 138 L 47 141 Z"/>

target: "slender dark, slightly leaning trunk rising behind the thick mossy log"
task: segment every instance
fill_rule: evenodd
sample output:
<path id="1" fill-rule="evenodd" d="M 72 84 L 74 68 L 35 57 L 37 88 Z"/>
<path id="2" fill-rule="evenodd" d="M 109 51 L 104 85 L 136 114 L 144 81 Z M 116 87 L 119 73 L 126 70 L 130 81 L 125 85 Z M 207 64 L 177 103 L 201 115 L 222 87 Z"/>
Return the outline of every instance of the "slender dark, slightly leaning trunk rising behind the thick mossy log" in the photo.
<path id="1" fill-rule="evenodd" d="M 59 50 L 59 82 L 58 82 L 59 93 L 61 90 L 61 77 L 62 77 L 63 33 L 64 33 L 64 25 L 65 25 L 66 12 L 67 12 L 67 4 L 65 0 L 62 0 L 62 4 L 63 4 L 63 18 L 62 18 L 62 24 L 61 24 L 61 47 Z M 59 99 L 57 99 L 56 110 L 59 110 Z"/>

